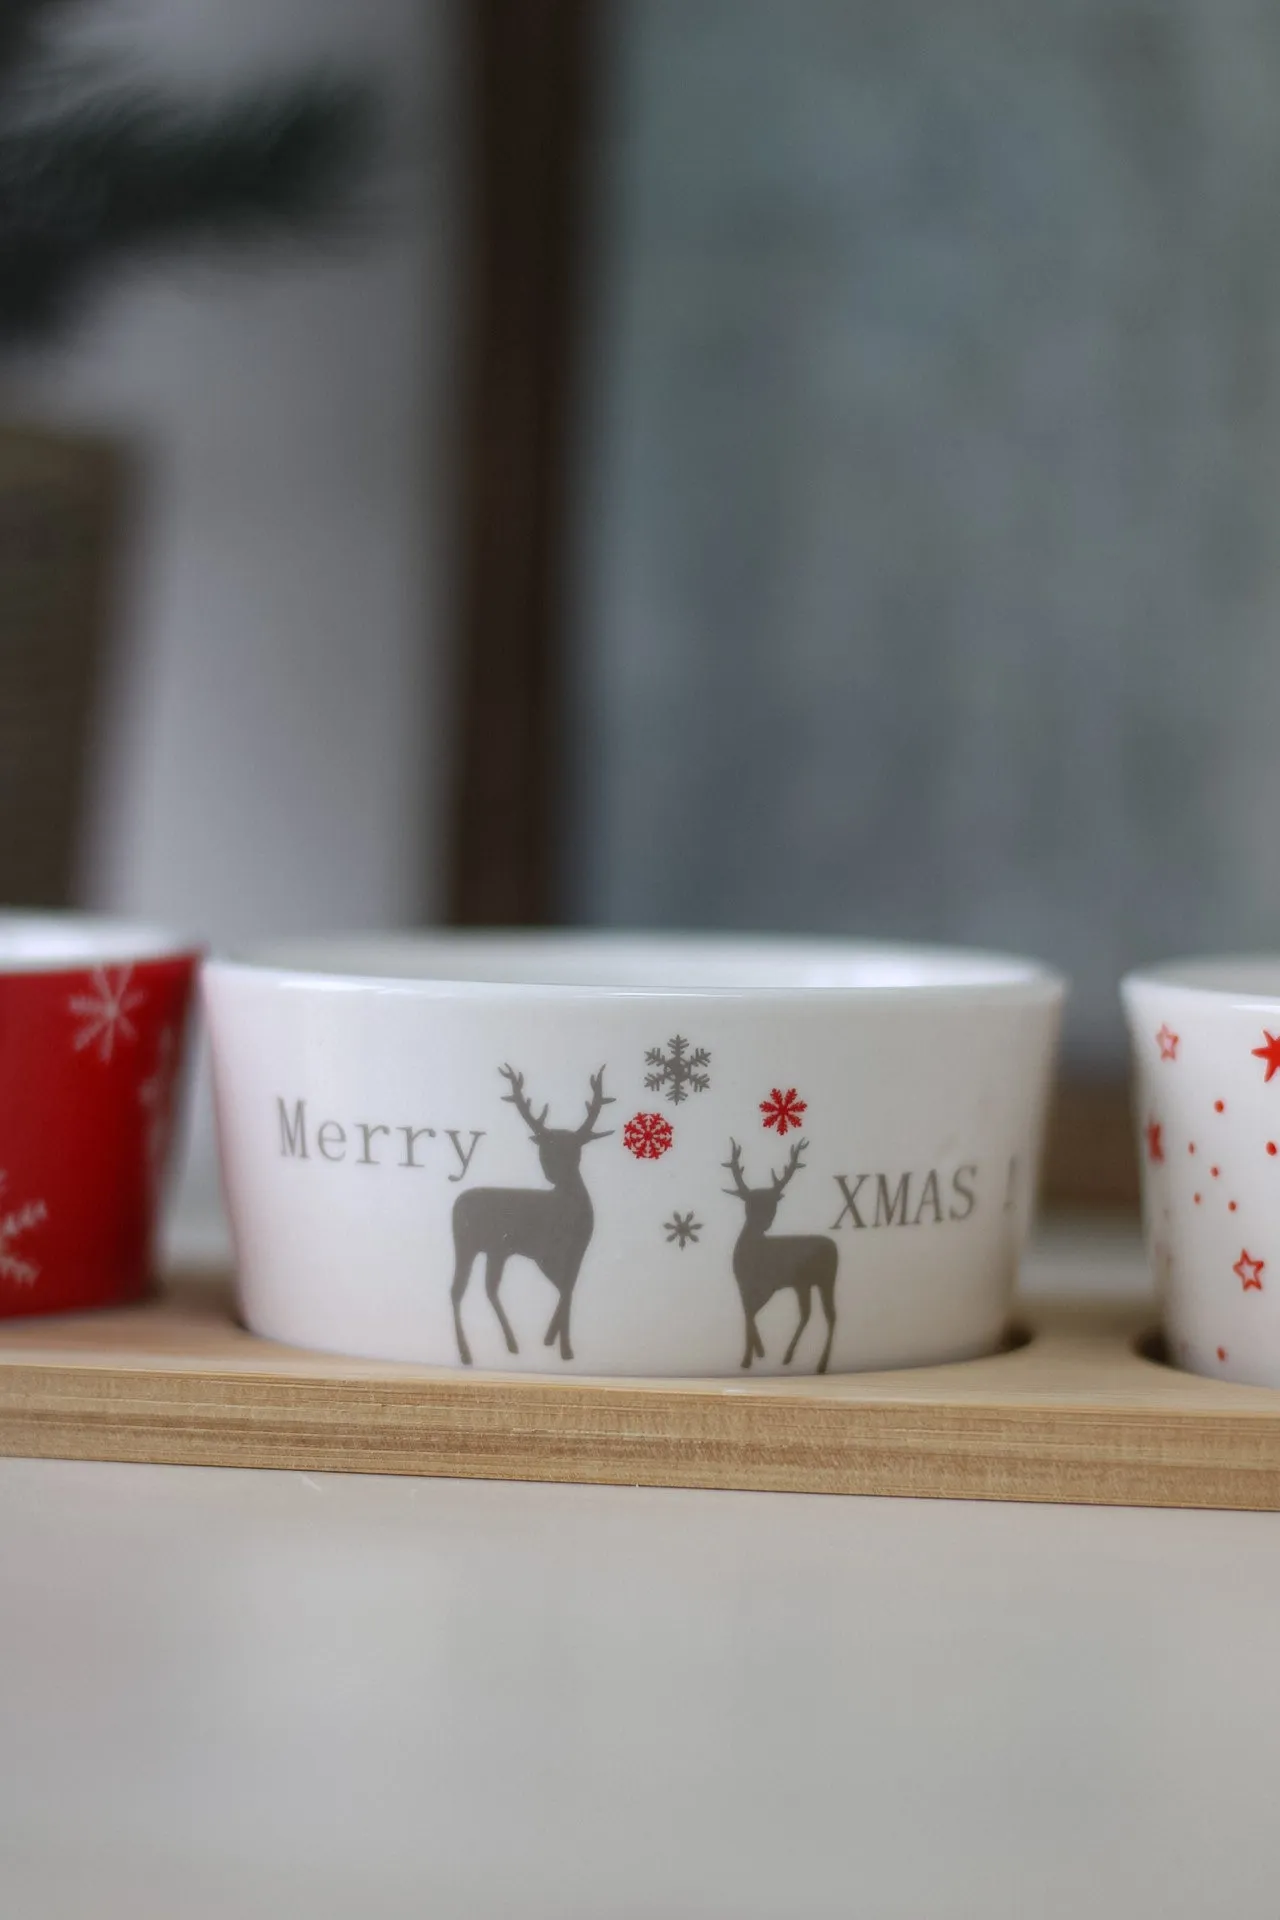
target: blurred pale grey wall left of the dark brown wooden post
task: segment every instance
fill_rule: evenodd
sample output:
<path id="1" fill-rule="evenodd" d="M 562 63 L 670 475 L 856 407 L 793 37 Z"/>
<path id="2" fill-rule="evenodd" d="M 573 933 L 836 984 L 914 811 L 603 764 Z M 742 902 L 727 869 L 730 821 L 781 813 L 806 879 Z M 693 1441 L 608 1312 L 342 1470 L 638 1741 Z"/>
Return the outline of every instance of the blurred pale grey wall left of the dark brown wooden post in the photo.
<path id="1" fill-rule="evenodd" d="M 447 8 L 86 0 L 54 27 L 69 79 L 102 61 L 209 102 L 294 71 L 351 75 L 386 127 L 374 215 L 355 230 L 132 261 L 65 336 L 0 365 L 0 426 L 106 436 L 132 465 L 77 900 L 219 947 L 436 916 Z M 223 1233 L 201 1068 L 177 1244 L 217 1252 Z"/>

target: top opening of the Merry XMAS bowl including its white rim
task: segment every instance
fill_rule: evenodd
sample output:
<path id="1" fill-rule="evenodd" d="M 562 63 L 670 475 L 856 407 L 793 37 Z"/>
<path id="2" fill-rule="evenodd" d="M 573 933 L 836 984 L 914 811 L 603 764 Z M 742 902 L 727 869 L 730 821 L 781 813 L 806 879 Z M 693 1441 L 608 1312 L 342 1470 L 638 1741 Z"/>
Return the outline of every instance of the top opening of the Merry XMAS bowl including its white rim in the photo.
<path id="1" fill-rule="evenodd" d="M 415 972 L 416 958 L 432 972 Z M 480 964 L 480 972 L 476 972 Z M 664 970 L 670 977 L 660 977 Z M 793 977 L 787 979 L 787 968 Z M 858 968 L 902 977 L 858 979 Z M 570 977 L 547 977 L 564 973 Z M 841 979 L 841 970 L 848 977 Z M 915 970 L 915 977 L 912 977 Z M 578 977 L 572 977 L 578 972 Z M 948 972 L 954 977 L 946 977 Z M 702 977 L 699 977 L 702 973 Z M 716 977 L 706 977 L 708 973 Z M 781 973 L 783 977 L 773 977 Z M 796 935 L 618 929 L 420 929 L 307 935 L 205 960 L 209 979 L 311 993 L 399 993 L 424 1000 L 833 1002 L 958 1000 L 1055 1004 L 1063 975 L 1038 960 L 965 947 Z"/>

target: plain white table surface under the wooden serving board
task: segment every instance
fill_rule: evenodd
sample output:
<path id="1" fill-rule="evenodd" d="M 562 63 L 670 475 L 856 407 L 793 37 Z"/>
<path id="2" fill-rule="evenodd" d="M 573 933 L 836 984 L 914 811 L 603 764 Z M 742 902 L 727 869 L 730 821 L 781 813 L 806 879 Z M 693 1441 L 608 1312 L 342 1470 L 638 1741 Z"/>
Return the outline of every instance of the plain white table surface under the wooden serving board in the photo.
<path id="1" fill-rule="evenodd" d="M 0 1461 L 0 1914 L 1276 1920 L 1278 1622 L 1272 1515 Z"/>

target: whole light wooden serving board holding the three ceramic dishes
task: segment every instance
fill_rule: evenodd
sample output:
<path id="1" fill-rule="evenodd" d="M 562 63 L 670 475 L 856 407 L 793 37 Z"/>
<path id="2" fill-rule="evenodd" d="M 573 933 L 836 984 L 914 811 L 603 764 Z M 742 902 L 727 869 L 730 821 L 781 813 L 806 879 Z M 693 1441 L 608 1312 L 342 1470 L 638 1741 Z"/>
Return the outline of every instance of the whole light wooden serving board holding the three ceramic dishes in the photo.
<path id="1" fill-rule="evenodd" d="M 1150 1306 L 1025 1311 L 990 1359 L 825 1379 L 378 1365 L 244 1332 L 225 1281 L 0 1323 L 0 1453 L 1151 1507 L 1280 1509 L 1280 1392 L 1148 1357 Z"/>

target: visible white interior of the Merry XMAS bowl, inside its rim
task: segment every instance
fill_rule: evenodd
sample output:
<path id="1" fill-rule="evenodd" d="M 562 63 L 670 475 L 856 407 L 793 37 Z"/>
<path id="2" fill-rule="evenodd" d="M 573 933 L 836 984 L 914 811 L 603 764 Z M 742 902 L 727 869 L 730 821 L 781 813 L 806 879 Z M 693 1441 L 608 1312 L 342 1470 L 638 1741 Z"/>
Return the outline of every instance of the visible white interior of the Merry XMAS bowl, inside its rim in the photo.
<path id="1" fill-rule="evenodd" d="M 854 941 L 628 933 L 403 933 L 280 941 L 240 966 L 330 979 L 601 993 L 973 993 L 1061 983 L 1031 960 Z"/>

